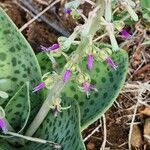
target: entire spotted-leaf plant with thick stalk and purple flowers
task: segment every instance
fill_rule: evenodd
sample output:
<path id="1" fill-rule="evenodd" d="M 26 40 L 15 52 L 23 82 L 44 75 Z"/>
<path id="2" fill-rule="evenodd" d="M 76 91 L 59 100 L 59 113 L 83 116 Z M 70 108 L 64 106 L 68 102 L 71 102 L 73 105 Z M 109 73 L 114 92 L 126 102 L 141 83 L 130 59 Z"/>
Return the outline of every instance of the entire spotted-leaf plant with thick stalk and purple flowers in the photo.
<path id="1" fill-rule="evenodd" d="M 80 5 L 87 2 L 93 9 L 88 18 L 78 14 Z M 137 21 L 135 6 L 128 0 L 119 2 Z M 0 9 L 0 81 L 5 81 L 0 82 L 0 105 L 5 112 L 4 117 L 0 115 L 0 149 L 85 150 L 82 130 L 112 105 L 128 69 L 128 55 L 115 37 L 116 28 L 123 30 L 123 21 L 113 20 L 111 3 L 66 3 L 65 13 L 84 16 L 84 24 L 69 37 L 41 46 L 37 55 Z M 110 44 L 95 42 L 101 34 L 108 35 Z"/>

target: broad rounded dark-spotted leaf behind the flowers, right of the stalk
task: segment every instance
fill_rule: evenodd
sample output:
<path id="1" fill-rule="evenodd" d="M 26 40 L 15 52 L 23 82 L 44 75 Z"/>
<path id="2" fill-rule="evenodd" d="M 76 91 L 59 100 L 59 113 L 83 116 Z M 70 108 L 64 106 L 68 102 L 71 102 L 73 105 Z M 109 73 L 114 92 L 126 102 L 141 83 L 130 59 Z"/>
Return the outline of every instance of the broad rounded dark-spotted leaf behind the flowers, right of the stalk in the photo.
<path id="1" fill-rule="evenodd" d="M 99 47 L 111 48 L 109 45 L 105 44 L 100 44 Z M 76 84 L 75 80 L 69 81 L 62 92 L 62 97 L 67 96 L 77 100 L 80 107 L 82 130 L 96 121 L 96 119 L 98 119 L 103 113 L 108 110 L 109 107 L 111 107 L 112 103 L 119 95 L 123 83 L 125 82 L 128 70 L 127 53 L 124 50 L 120 50 L 113 53 L 112 59 L 118 65 L 116 71 L 113 70 L 109 65 L 107 65 L 106 62 L 94 61 L 92 71 L 88 71 L 86 60 L 83 60 L 82 64 L 80 64 L 82 71 L 88 73 L 91 76 L 92 84 L 94 84 L 98 89 L 98 92 L 91 92 L 89 98 L 86 97 L 85 93 L 79 91 L 78 85 Z M 43 63 L 42 59 L 39 59 L 39 63 Z M 47 66 L 48 64 L 50 65 L 50 61 L 47 62 Z M 65 62 L 63 62 L 63 64 L 65 64 Z M 46 68 L 44 71 L 46 71 Z"/>

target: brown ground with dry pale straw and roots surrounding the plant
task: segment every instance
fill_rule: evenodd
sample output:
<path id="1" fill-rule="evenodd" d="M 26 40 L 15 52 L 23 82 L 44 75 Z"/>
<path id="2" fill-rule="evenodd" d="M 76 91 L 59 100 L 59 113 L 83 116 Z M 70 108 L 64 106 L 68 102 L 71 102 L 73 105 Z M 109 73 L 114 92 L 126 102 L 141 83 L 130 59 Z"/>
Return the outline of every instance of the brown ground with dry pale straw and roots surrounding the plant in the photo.
<path id="1" fill-rule="evenodd" d="M 41 11 L 47 7 L 47 2 L 48 0 L 34 0 L 31 6 L 34 10 Z M 23 6 L 19 3 L 16 4 L 12 0 L 0 0 L 0 6 L 5 8 L 19 28 L 27 23 L 32 18 L 32 15 L 35 15 L 34 11 L 28 12 L 25 10 L 28 4 Z M 77 23 L 70 16 L 64 15 L 62 8 L 63 1 L 62 4 L 56 5 L 43 15 L 48 22 L 58 25 L 57 31 L 49 26 L 48 23 L 45 23 L 44 19 L 36 20 L 22 31 L 35 52 L 39 51 L 40 45 L 49 46 L 51 43 L 56 42 L 62 33 L 65 35 L 73 31 Z M 29 8 L 27 9 L 29 10 Z M 84 14 L 87 15 L 91 8 L 86 4 L 82 6 L 82 9 Z M 139 15 L 141 14 L 139 13 Z M 80 23 L 82 23 L 82 20 Z M 133 132 L 130 134 L 132 148 L 150 150 L 148 140 L 143 137 L 144 134 L 150 136 L 150 93 L 145 90 L 148 81 L 150 81 L 150 46 L 141 45 L 145 39 L 150 37 L 150 30 L 142 18 L 135 26 L 129 25 L 127 28 L 130 29 L 131 33 L 134 33 L 130 40 L 117 37 L 122 48 L 128 52 L 130 59 L 126 84 L 117 101 L 105 113 L 105 117 L 83 131 L 88 150 L 99 150 L 105 135 L 107 135 L 105 150 L 128 149 L 128 137 L 133 126 L 131 124 L 133 116 L 135 117 L 135 125 L 132 129 Z M 101 40 L 107 39 L 107 37 L 104 37 Z M 137 102 L 138 107 L 134 114 Z M 106 123 L 102 120 L 106 120 Z M 106 127 L 106 131 L 104 127 Z M 95 133 L 91 135 L 93 131 Z"/>

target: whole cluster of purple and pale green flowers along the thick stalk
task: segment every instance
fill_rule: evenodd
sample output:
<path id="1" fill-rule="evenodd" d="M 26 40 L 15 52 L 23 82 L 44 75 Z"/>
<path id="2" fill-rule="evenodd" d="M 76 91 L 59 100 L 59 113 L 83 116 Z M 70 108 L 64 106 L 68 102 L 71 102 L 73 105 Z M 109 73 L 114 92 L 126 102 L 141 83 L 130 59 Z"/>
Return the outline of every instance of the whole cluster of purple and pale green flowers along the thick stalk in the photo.
<path id="1" fill-rule="evenodd" d="M 65 5 L 64 12 L 68 15 L 73 16 L 74 12 L 78 9 L 80 4 L 81 4 L 80 0 L 75 0 L 75 1 L 69 2 Z M 117 70 L 117 67 L 118 67 L 117 64 L 115 63 L 115 61 L 113 60 L 113 55 L 112 55 L 112 51 L 119 50 L 117 41 L 114 36 L 114 33 L 115 33 L 114 27 L 115 26 L 112 23 L 111 18 L 108 20 L 108 18 L 106 18 L 106 16 L 105 16 L 105 19 L 102 19 L 102 23 L 103 23 L 103 25 L 106 26 L 106 29 L 108 28 L 108 34 L 110 36 L 110 41 L 111 41 L 112 47 L 111 47 L 111 49 L 110 48 L 98 48 L 97 46 L 95 46 L 95 43 L 90 42 L 89 47 L 84 49 L 85 52 L 82 53 L 83 56 L 79 57 L 79 58 L 83 58 L 83 57 L 87 58 L 87 69 L 89 72 L 92 72 L 95 61 L 101 61 L 101 62 L 107 64 L 108 67 L 110 67 L 114 70 Z M 90 24 L 90 23 L 88 23 L 88 24 Z M 124 29 L 124 24 L 121 21 L 116 22 L 115 28 L 118 29 L 118 31 L 122 35 L 122 37 L 124 37 L 126 39 L 129 39 L 131 37 L 130 33 L 126 29 Z M 83 34 L 83 33 L 81 33 L 81 34 Z M 98 92 L 95 85 L 93 85 L 91 83 L 90 76 L 88 74 L 86 74 L 85 72 L 82 72 L 82 70 L 80 69 L 80 67 L 78 65 L 78 62 L 74 61 L 71 56 L 68 56 L 67 51 L 71 47 L 71 44 L 73 44 L 75 42 L 75 39 L 78 38 L 78 35 L 80 35 L 80 33 L 76 32 L 74 35 L 71 35 L 69 38 L 60 37 L 60 38 L 58 38 L 58 43 L 55 43 L 55 44 L 51 45 L 50 47 L 41 46 L 41 50 L 46 52 L 48 54 L 49 58 L 51 57 L 49 54 L 52 54 L 52 57 L 53 56 L 56 57 L 57 54 L 61 54 L 61 55 L 65 56 L 67 63 L 64 66 L 63 74 L 61 75 L 61 77 L 58 78 L 58 75 L 55 75 L 55 76 L 57 76 L 57 80 L 55 80 L 54 78 L 51 78 L 51 75 L 50 75 L 50 77 L 46 76 L 46 79 L 43 78 L 42 79 L 43 82 L 41 82 L 39 85 L 37 85 L 34 88 L 33 92 L 37 92 L 40 89 L 43 89 L 45 87 L 50 89 L 52 87 L 53 83 L 60 79 L 65 84 L 69 81 L 69 79 L 72 76 L 76 78 L 76 81 L 77 81 L 80 91 L 85 92 L 87 97 L 90 96 L 90 92 L 92 92 L 92 91 Z M 59 56 L 61 56 L 61 55 L 59 55 Z M 52 61 L 54 59 L 52 58 L 50 60 Z M 57 82 L 55 82 L 55 83 L 57 83 Z M 59 112 L 61 112 L 62 107 L 61 107 L 60 103 L 61 103 L 60 98 L 55 98 L 53 100 L 53 104 L 52 104 L 51 108 L 54 111 L 54 116 L 57 116 L 57 114 Z"/>

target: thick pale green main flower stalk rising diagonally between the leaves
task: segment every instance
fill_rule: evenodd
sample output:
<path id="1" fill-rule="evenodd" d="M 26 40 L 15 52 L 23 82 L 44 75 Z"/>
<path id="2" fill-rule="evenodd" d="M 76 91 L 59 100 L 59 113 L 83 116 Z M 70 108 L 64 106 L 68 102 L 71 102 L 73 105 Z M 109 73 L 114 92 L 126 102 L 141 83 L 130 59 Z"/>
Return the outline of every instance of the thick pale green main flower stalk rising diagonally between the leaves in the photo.
<path id="1" fill-rule="evenodd" d="M 70 55 L 71 60 L 75 64 L 79 64 L 80 62 L 82 62 L 82 56 L 84 55 L 85 50 L 87 49 L 87 47 L 89 46 L 89 43 L 90 43 L 89 37 L 93 37 L 94 34 L 96 33 L 96 31 L 100 28 L 99 21 L 100 21 L 100 17 L 104 13 L 104 0 L 98 0 L 97 6 L 99 6 L 99 9 L 97 9 L 96 12 L 95 12 L 95 10 L 93 11 L 94 14 L 95 13 L 96 14 L 93 15 L 93 17 L 90 16 L 90 18 L 88 18 L 87 23 L 83 26 L 84 28 L 83 28 L 82 33 L 86 33 L 86 34 L 82 34 L 81 43 L 79 44 L 75 53 Z M 90 26 L 88 26 L 89 21 L 92 22 L 90 24 Z M 88 33 L 86 32 L 87 28 L 88 28 Z M 61 73 L 61 76 L 63 76 L 63 74 L 64 74 L 64 72 Z M 49 105 L 52 104 L 52 100 L 54 98 L 58 98 L 60 96 L 60 93 L 66 84 L 67 84 L 67 82 L 64 82 L 63 78 L 59 82 L 54 84 L 53 88 L 49 91 L 48 97 L 44 101 L 42 107 L 40 108 L 40 110 L 37 113 L 36 117 L 34 118 L 33 122 L 30 124 L 29 128 L 27 129 L 25 135 L 32 136 L 36 132 L 36 130 L 39 128 L 39 126 L 44 121 L 45 117 L 47 116 L 47 114 L 50 110 Z"/>

